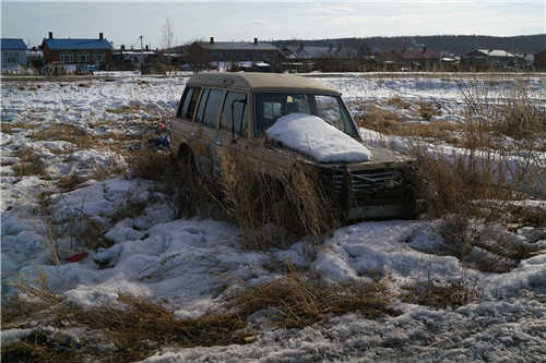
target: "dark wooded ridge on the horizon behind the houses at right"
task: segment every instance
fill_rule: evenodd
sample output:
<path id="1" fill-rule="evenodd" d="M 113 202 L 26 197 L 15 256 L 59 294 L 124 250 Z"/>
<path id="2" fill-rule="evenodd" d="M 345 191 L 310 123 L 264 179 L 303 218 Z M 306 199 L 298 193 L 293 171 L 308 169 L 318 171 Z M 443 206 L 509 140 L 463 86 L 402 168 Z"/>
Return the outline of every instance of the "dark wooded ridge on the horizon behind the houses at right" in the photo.
<path id="1" fill-rule="evenodd" d="M 434 35 L 434 36 L 396 36 L 370 38 L 337 38 L 320 40 L 278 40 L 277 47 L 286 44 L 304 44 L 312 46 L 328 46 L 342 44 L 370 53 L 390 51 L 393 49 L 420 48 L 426 46 L 439 52 L 449 52 L 462 56 L 475 49 L 503 49 L 510 52 L 537 53 L 546 50 L 546 34 L 521 35 L 512 37 L 497 37 L 485 35 Z"/>

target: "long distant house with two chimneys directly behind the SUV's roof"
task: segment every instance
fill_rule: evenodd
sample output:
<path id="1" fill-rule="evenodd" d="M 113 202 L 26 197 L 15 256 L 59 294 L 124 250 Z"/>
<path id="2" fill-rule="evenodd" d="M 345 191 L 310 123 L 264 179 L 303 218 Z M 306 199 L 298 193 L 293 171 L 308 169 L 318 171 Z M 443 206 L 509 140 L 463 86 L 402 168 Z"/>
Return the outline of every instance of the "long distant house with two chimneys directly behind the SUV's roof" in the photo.
<path id="1" fill-rule="evenodd" d="M 258 41 L 198 41 L 198 45 L 209 53 L 210 61 L 217 62 L 265 62 L 276 64 L 281 59 L 281 52 L 272 44 Z"/>

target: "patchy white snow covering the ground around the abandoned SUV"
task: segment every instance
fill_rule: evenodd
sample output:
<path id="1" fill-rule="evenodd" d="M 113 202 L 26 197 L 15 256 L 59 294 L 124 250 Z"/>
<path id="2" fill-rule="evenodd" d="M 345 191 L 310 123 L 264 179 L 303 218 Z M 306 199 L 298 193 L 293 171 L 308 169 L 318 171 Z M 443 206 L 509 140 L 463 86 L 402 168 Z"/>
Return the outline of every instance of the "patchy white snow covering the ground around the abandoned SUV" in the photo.
<path id="1" fill-rule="evenodd" d="M 532 100 L 546 107 L 544 75 L 492 81 L 358 74 L 318 78 L 340 89 L 354 111 L 360 100 L 400 97 L 437 102 L 441 120 L 464 122 L 461 87 L 473 83 L 500 99 L 524 82 L 533 89 Z M 167 302 L 178 317 L 197 317 L 219 306 L 238 287 L 283 276 L 282 269 L 271 266 L 288 262 L 325 281 L 366 282 L 379 274 L 401 314 L 368 319 L 351 313 L 304 329 L 256 325 L 260 337 L 251 343 L 166 346 L 146 362 L 544 361 L 545 226 L 496 227 L 494 239 L 531 251 L 502 274 L 480 271 L 447 253 L 441 220 L 359 222 L 335 230 L 311 253 L 305 241 L 287 250 L 254 252 L 241 247 L 241 231 L 234 225 L 177 218 L 170 195 L 158 182 L 123 173 L 100 180 L 97 170 L 126 167 L 124 156 L 141 137 L 161 134 L 187 80 L 111 74 L 75 82 L 2 83 L 2 299 L 17 293 L 13 281 L 43 275 L 52 292 L 75 304 L 111 305 L 118 294 L 130 293 Z M 50 130 L 58 135 L 71 130 L 71 134 L 59 137 Z M 373 133 L 361 130 L 361 134 Z M 33 173 L 33 165 L 39 165 L 41 172 Z M 63 186 L 67 178 L 75 177 L 78 183 Z M 45 194 L 51 197 L 47 216 Z M 139 203 L 144 207 L 136 215 L 118 217 L 118 211 Z M 541 201 L 523 204 L 533 203 L 544 207 Z M 111 246 L 86 247 L 81 239 L 90 226 Z M 476 222 L 476 233 L 482 227 Z M 59 251 L 59 261 L 51 247 Z M 67 262 L 76 253 L 90 255 Z M 470 255 L 484 253 L 474 247 Z M 475 299 L 456 308 L 432 308 L 396 298 L 417 281 L 461 282 L 475 292 Z M 2 343 L 22 339 L 31 330 L 4 329 Z M 80 339 L 85 343 L 85 335 Z"/>

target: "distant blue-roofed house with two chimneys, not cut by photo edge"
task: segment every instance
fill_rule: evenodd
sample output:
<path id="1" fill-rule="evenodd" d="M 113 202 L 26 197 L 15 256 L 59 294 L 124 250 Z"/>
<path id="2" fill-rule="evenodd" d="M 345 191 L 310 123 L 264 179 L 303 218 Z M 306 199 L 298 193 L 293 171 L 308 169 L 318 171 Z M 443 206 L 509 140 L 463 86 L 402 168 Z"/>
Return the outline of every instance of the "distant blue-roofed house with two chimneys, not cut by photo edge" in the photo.
<path id="1" fill-rule="evenodd" d="M 63 64 L 94 64 L 97 69 L 105 69 L 111 63 L 112 46 L 98 34 L 95 39 L 55 38 L 49 37 L 41 43 L 44 62 L 60 62 Z"/>

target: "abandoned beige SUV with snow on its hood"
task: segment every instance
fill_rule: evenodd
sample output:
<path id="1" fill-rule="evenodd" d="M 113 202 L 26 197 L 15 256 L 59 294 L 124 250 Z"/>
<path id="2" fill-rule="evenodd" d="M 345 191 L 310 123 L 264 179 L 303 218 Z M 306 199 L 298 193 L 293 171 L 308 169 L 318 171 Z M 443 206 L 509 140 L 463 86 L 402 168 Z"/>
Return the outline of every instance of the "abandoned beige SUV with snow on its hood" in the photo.
<path id="1" fill-rule="evenodd" d="M 284 138 L 270 140 L 269 131 L 275 123 L 284 120 L 297 129 L 298 118 L 311 122 L 311 126 L 300 126 L 304 130 L 298 132 L 318 131 L 322 135 L 322 130 L 328 131 L 322 144 L 316 143 L 320 140 L 307 140 L 305 146 L 316 150 L 306 153 L 298 148 L 299 144 L 286 142 L 293 136 L 289 130 Z M 286 176 L 295 164 L 304 162 L 320 172 L 324 189 L 345 218 L 407 216 L 413 209 L 406 181 L 412 159 L 369 146 L 370 157 L 363 160 L 313 157 L 313 152 L 328 154 L 332 147 L 335 149 L 336 137 L 346 137 L 347 145 L 361 146 L 358 129 L 335 89 L 287 74 L 203 73 L 192 76 L 186 85 L 173 120 L 170 145 L 175 155 L 192 160 L 198 172 L 210 180 L 218 178 L 217 156 L 227 150 L 273 178 Z"/>

